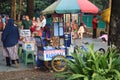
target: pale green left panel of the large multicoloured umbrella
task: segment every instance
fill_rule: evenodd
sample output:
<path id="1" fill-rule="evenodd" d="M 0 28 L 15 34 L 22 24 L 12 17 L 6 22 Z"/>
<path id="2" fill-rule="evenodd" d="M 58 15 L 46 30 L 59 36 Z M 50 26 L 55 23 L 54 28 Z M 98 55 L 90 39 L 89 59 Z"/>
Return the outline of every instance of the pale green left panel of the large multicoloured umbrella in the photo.
<path id="1" fill-rule="evenodd" d="M 50 6 L 48 6 L 45 10 L 42 11 L 43 14 L 53 14 L 55 13 L 55 9 L 60 3 L 61 0 L 57 0 L 54 3 L 52 3 Z"/>

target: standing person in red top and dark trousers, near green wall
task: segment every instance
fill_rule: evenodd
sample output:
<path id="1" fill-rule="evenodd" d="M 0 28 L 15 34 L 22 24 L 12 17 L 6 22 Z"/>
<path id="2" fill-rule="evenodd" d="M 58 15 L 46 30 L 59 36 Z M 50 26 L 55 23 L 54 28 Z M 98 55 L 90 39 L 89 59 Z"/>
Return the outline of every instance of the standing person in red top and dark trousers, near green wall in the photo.
<path id="1" fill-rule="evenodd" d="M 93 29 L 93 35 L 92 35 L 92 38 L 95 39 L 97 38 L 97 27 L 98 27 L 98 18 L 97 16 L 95 15 L 92 19 L 92 29 Z"/>

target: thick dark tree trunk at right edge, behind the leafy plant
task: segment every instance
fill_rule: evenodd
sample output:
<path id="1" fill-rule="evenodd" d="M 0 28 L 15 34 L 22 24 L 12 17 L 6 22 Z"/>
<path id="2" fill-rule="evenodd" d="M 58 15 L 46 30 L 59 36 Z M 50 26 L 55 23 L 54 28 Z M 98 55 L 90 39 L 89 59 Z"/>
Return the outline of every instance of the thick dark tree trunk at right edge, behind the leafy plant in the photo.
<path id="1" fill-rule="evenodd" d="M 120 0 L 112 0 L 109 44 L 114 44 L 120 52 Z"/>

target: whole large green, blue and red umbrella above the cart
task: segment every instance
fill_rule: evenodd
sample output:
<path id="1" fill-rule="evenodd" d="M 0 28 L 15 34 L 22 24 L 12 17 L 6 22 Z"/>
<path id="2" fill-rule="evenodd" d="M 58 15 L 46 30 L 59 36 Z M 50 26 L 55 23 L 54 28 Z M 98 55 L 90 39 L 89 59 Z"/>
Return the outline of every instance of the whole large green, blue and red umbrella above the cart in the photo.
<path id="1" fill-rule="evenodd" d="M 89 0 L 57 0 L 45 10 L 43 14 L 65 13 L 98 13 L 99 8 Z"/>

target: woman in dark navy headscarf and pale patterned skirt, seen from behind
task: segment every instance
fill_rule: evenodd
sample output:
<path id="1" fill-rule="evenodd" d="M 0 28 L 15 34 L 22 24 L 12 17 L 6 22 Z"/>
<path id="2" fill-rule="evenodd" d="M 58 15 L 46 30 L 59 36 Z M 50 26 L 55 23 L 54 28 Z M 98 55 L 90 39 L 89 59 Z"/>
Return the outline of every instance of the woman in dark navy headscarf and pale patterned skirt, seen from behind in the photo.
<path id="1" fill-rule="evenodd" d="M 6 57 L 6 65 L 11 66 L 15 64 L 15 67 L 18 67 L 18 40 L 19 40 L 19 31 L 16 26 L 14 26 L 14 20 L 9 19 L 6 24 L 5 29 L 3 30 L 1 40 L 3 42 L 3 56 Z"/>

